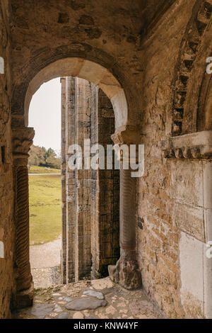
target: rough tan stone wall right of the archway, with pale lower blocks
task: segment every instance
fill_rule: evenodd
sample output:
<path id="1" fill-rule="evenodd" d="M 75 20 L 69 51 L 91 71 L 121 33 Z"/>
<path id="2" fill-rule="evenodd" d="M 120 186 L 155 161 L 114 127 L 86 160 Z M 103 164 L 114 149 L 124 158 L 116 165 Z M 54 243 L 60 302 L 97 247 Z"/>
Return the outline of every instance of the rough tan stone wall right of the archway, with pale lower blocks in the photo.
<path id="1" fill-rule="evenodd" d="M 146 171 L 138 181 L 137 249 L 143 287 L 167 317 L 204 317 L 204 165 L 165 159 L 160 149 L 172 127 L 173 73 L 193 5 L 182 1 L 164 18 L 142 62 Z"/>

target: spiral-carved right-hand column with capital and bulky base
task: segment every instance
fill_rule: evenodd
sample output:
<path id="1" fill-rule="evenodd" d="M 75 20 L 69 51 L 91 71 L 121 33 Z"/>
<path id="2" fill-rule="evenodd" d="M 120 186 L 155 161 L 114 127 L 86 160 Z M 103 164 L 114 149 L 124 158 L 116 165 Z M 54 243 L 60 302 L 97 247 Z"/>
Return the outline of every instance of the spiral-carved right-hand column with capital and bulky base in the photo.
<path id="1" fill-rule="evenodd" d="M 119 145 L 132 145 L 139 142 L 139 135 L 129 127 L 122 128 L 112 140 Z M 120 161 L 120 248 L 121 256 L 116 266 L 109 266 L 112 281 L 126 289 L 141 286 L 141 272 L 136 260 L 136 178 L 131 177 L 131 169 L 123 169 Z"/>

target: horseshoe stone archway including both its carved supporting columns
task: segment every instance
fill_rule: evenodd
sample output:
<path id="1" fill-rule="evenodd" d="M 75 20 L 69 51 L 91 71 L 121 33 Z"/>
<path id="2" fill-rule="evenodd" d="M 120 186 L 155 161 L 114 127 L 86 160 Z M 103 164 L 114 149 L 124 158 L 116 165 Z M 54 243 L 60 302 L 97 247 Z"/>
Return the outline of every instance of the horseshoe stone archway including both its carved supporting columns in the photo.
<path id="1" fill-rule="evenodd" d="M 45 81 L 55 77 L 79 77 L 100 86 L 110 98 L 115 115 L 114 143 L 137 144 L 139 133 L 136 128 L 136 104 L 131 93 L 125 93 L 122 84 L 102 65 L 78 57 L 57 60 L 43 67 L 33 78 L 23 85 L 16 86 L 12 100 L 12 129 L 14 184 L 16 193 L 16 307 L 30 305 L 33 300 L 33 281 L 29 263 L 29 218 L 28 218 L 28 151 L 34 135 L 33 128 L 27 128 L 28 108 L 35 91 Z M 30 77 L 30 75 L 29 75 Z M 20 96 L 22 96 L 20 98 Z M 133 101 L 131 103 L 131 101 Z M 18 142 L 18 145 L 16 143 Z M 21 154 L 19 153 L 19 150 Z M 18 166 L 18 167 L 17 167 Z M 20 171 L 21 179 L 18 177 Z M 141 273 L 136 262 L 136 178 L 131 178 L 131 170 L 120 169 L 120 247 L 121 257 L 117 266 L 110 267 L 110 276 L 124 288 L 138 288 L 141 285 Z M 22 189 L 24 188 L 24 191 Z M 25 201 L 23 207 L 22 203 Z M 129 208 L 130 203 L 130 209 Z M 18 213 L 17 213 L 18 212 Z M 130 213 L 129 213 L 130 212 Z M 24 215 L 23 218 L 19 218 Z"/>

